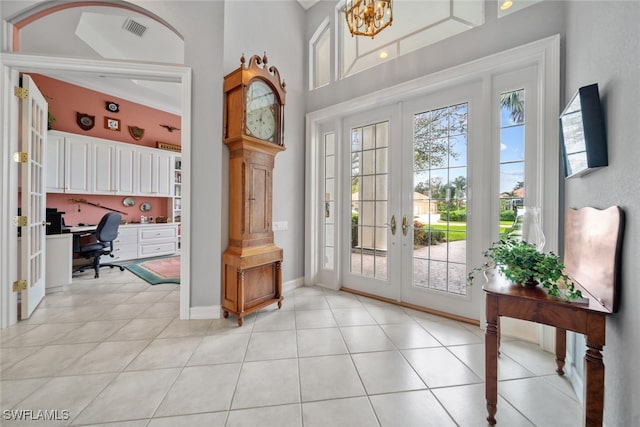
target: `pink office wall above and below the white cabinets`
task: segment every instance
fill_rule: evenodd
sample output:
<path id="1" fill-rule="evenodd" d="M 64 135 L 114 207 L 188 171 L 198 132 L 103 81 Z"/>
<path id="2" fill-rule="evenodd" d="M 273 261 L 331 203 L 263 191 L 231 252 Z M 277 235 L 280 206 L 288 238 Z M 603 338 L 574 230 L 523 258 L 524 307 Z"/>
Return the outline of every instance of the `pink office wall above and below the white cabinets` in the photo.
<path id="1" fill-rule="evenodd" d="M 54 130 L 147 147 L 156 147 L 157 141 L 175 145 L 180 145 L 181 143 L 179 130 L 169 132 L 160 126 L 161 124 L 166 124 L 180 128 L 180 116 L 178 115 L 85 89 L 40 74 L 30 75 L 40 92 L 47 97 L 49 111 L 56 118 L 55 123 L 53 123 Z M 106 101 L 119 104 L 120 111 L 118 113 L 107 111 L 105 107 Z M 76 122 L 76 112 L 95 116 L 94 127 L 88 131 L 80 128 Z M 120 131 L 105 129 L 105 117 L 119 119 Z M 129 134 L 128 126 L 137 126 L 144 129 L 144 136 L 139 141 L 136 141 Z M 129 222 L 139 222 L 140 215 L 154 218 L 170 215 L 168 213 L 169 201 L 165 197 L 135 196 L 135 206 L 128 208 L 122 204 L 125 196 L 47 193 L 47 207 L 57 208 L 59 211 L 65 212 L 64 219 L 68 225 L 77 225 L 78 223 L 97 224 L 100 218 L 109 212 L 86 204 L 81 204 L 80 212 L 78 212 L 78 205 L 70 200 L 74 198 L 85 199 L 91 203 L 127 212 L 128 215 L 123 215 L 123 220 Z M 140 211 L 140 205 L 145 202 L 151 204 L 151 211 Z"/>

